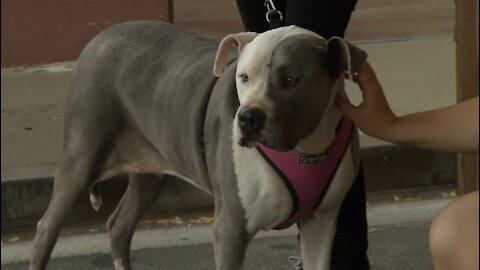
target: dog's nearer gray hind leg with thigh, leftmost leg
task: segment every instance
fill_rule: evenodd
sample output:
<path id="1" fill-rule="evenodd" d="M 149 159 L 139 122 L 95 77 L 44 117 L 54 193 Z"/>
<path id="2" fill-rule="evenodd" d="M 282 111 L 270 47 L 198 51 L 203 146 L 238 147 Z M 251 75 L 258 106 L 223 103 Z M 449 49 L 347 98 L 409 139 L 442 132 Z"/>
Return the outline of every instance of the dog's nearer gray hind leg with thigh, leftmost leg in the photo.
<path id="1" fill-rule="evenodd" d="M 78 81 L 78 77 L 81 76 L 75 80 Z M 100 178 L 102 166 L 112 151 L 112 142 L 123 123 L 113 99 L 105 96 L 102 89 L 88 85 L 90 81 L 73 83 L 69 94 L 63 152 L 50 203 L 37 224 L 31 270 L 45 269 L 67 213 L 78 195 Z"/>

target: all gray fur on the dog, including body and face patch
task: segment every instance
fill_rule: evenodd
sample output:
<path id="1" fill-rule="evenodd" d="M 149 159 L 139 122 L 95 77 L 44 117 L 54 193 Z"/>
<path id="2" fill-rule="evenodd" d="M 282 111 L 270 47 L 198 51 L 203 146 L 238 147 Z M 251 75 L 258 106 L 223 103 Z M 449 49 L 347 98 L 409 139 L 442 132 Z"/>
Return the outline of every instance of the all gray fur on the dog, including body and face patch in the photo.
<path id="1" fill-rule="evenodd" d="M 322 89 L 331 89 L 335 81 L 326 71 L 331 63 L 325 60 L 325 46 L 309 37 L 286 38 L 273 52 L 267 93 L 276 118 L 267 142 L 278 150 L 293 148 L 292 142 L 311 133 L 322 117 L 331 95 Z M 298 47 L 304 53 L 292 56 L 289 51 Z M 222 76 L 214 77 L 217 48 L 216 41 L 153 21 L 114 25 L 85 47 L 67 101 L 63 152 L 50 204 L 37 225 L 30 270 L 45 269 L 81 191 L 90 190 L 92 204 L 99 208 L 98 183 L 124 173 L 129 187 L 107 222 L 117 269 L 131 269 L 135 226 L 169 177 L 214 196 L 217 269 L 241 268 L 253 235 L 246 229 L 232 153 L 239 107 L 236 64 L 224 71 L 222 65 Z M 230 53 L 228 59 L 235 56 Z M 278 83 L 282 70 L 298 77 L 302 93 Z M 300 128 L 291 129 L 291 123 Z"/>

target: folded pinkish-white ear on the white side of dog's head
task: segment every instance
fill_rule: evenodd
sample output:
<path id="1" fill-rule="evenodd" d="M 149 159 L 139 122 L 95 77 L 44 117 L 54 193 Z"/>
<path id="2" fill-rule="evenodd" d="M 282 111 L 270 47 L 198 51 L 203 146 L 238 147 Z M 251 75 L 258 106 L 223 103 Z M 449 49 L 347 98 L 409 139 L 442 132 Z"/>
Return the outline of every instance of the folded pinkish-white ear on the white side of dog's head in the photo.
<path id="1" fill-rule="evenodd" d="M 230 34 L 226 36 L 218 46 L 217 56 L 215 57 L 215 64 L 213 66 L 213 74 L 217 77 L 225 71 L 228 62 L 228 49 L 230 46 L 235 46 L 238 53 L 242 52 L 243 47 L 248 42 L 252 41 L 258 34 L 253 32 L 245 32 L 238 34 Z"/>

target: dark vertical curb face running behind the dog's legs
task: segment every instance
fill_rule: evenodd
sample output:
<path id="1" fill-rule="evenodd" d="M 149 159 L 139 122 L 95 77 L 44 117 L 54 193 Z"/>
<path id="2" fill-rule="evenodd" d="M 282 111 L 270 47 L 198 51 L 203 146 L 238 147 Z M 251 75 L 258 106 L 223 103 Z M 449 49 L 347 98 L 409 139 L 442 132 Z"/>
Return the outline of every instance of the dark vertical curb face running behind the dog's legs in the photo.
<path id="1" fill-rule="evenodd" d="M 362 149 L 367 192 L 418 189 L 456 183 L 456 155 L 402 145 Z M 99 212 L 81 194 L 67 224 L 105 220 L 114 210 L 128 182 L 126 177 L 101 184 L 103 205 Z M 147 215 L 198 211 L 213 207 L 211 196 L 183 181 L 168 180 L 165 192 Z M 45 212 L 53 177 L 2 179 L 2 233 L 33 228 Z"/>

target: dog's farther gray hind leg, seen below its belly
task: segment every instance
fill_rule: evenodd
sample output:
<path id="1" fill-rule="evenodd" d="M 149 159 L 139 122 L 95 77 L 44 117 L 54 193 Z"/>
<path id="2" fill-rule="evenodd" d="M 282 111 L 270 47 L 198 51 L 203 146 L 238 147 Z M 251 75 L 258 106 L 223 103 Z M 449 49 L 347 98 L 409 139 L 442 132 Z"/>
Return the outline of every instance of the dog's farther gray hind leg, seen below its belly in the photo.
<path id="1" fill-rule="evenodd" d="M 130 244 L 137 222 L 157 200 L 167 176 L 130 174 L 129 186 L 107 221 L 111 256 L 116 270 L 131 269 Z"/>

